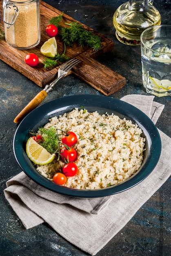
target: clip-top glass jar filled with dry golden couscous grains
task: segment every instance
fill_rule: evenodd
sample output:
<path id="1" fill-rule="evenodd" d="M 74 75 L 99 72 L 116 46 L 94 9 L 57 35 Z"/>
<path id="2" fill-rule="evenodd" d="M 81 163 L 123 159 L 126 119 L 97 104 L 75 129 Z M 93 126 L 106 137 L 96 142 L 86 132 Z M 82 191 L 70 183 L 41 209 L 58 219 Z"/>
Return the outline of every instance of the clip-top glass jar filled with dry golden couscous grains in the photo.
<path id="1" fill-rule="evenodd" d="M 5 39 L 17 49 L 29 49 L 40 43 L 39 0 L 3 0 Z"/>

